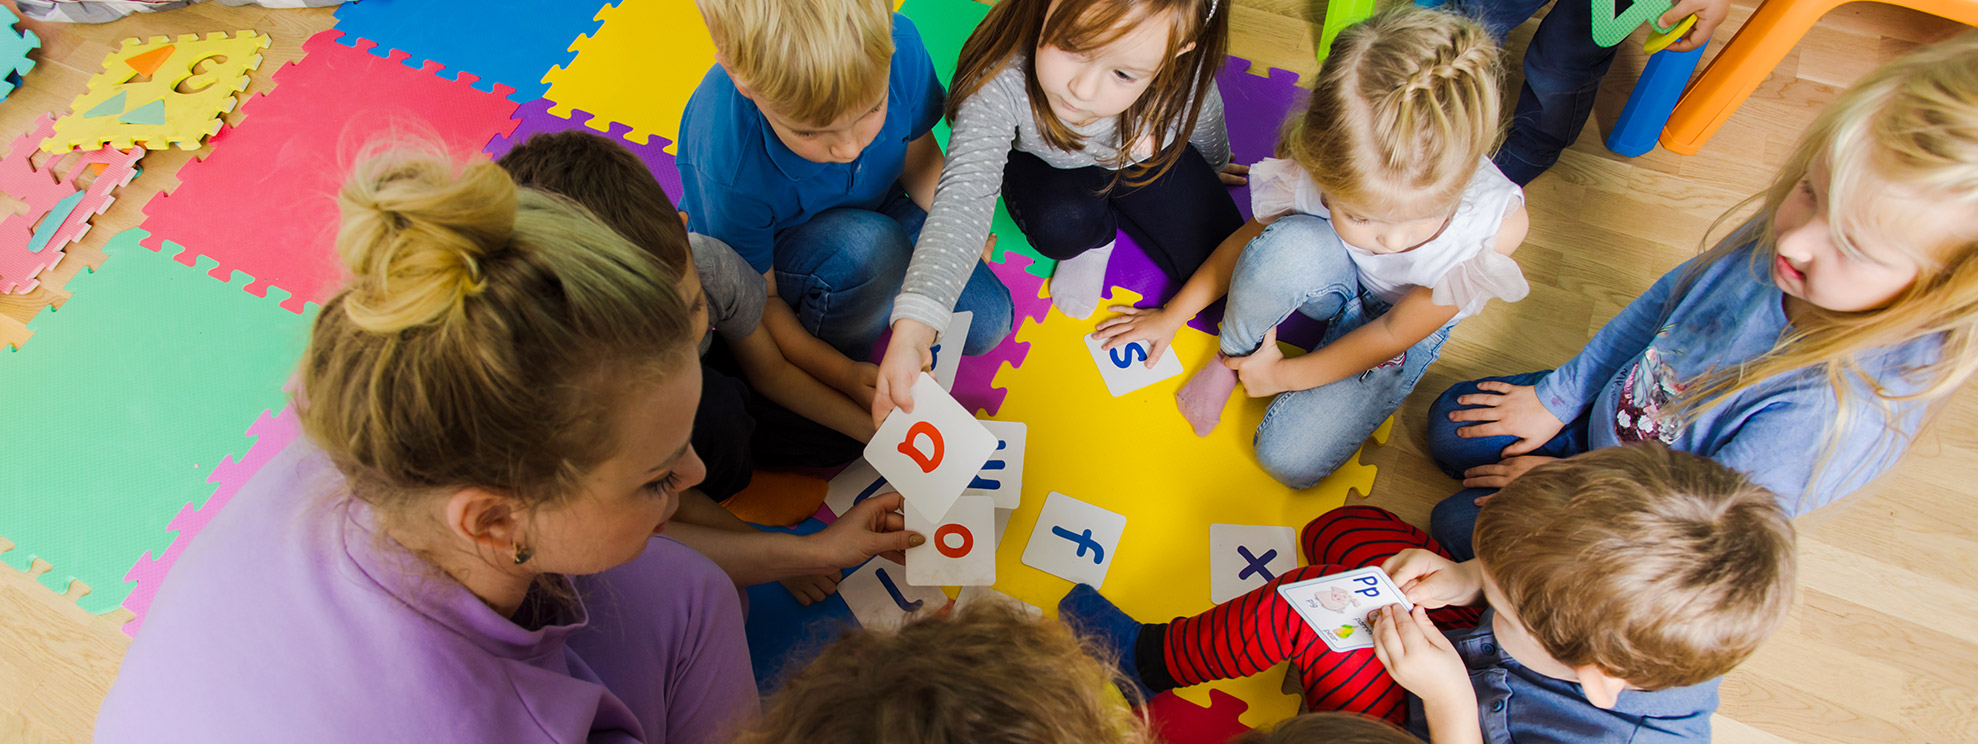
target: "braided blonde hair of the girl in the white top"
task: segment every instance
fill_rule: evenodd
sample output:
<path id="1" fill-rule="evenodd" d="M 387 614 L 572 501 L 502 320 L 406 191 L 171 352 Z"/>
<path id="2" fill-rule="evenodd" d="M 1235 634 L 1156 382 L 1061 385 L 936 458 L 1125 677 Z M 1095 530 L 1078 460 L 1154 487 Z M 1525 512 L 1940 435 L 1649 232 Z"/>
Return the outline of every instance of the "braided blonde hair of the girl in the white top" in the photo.
<path id="1" fill-rule="evenodd" d="M 1474 20 L 1400 6 L 1347 26 L 1278 156 L 1367 208 L 1454 204 L 1503 125 L 1497 44 Z"/>

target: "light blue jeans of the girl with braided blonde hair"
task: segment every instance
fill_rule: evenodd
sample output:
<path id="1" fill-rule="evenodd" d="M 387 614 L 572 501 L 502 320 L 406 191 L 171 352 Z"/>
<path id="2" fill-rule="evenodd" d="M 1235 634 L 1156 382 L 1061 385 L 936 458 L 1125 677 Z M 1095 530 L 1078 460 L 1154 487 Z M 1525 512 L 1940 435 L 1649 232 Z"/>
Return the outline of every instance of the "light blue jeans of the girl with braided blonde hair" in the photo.
<path id="1" fill-rule="evenodd" d="M 1359 269 L 1325 220 L 1288 216 L 1244 245 L 1222 313 L 1222 352 L 1244 356 L 1292 313 L 1325 321 L 1321 348 L 1381 317 L 1389 305 L 1361 289 Z M 1311 390 L 1278 394 L 1256 427 L 1256 459 L 1270 477 L 1305 489 L 1345 465 L 1422 380 L 1450 340 L 1450 323 L 1410 346 L 1398 364 Z"/>

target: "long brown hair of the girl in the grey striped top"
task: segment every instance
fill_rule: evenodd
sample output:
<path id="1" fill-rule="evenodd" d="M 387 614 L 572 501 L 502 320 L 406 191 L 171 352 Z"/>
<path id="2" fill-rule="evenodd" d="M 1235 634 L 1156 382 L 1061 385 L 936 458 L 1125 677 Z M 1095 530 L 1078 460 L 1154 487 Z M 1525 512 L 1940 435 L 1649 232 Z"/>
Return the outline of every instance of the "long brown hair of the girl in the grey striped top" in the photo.
<path id="1" fill-rule="evenodd" d="M 1086 144 L 1084 137 L 1050 113 L 1050 101 L 1036 81 L 1036 47 L 1048 44 L 1066 51 L 1098 49 L 1125 36 L 1131 30 L 1129 22 L 1165 16 L 1169 22 L 1165 63 L 1153 73 L 1139 101 L 1118 119 L 1122 158 L 1131 150 L 1127 142 L 1139 142 L 1143 137 L 1155 140 L 1155 154 L 1147 162 L 1114 164 L 1129 186 L 1161 178 L 1189 146 L 1189 133 L 1203 115 L 1209 85 L 1222 71 L 1234 0 L 1058 0 L 1056 12 L 1050 10 L 1050 2 L 1003 0 L 989 8 L 989 18 L 983 18 L 961 46 L 953 91 L 947 97 L 947 119 L 953 121 L 961 101 L 1023 57 L 1036 131 L 1054 148 L 1078 150 Z M 1191 42 L 1195 47 L 1181 51 Z M 1179 125 L 1173 129 L 1173 140 L 1161 140 L 1167 137 L 1167 125 Z"/>

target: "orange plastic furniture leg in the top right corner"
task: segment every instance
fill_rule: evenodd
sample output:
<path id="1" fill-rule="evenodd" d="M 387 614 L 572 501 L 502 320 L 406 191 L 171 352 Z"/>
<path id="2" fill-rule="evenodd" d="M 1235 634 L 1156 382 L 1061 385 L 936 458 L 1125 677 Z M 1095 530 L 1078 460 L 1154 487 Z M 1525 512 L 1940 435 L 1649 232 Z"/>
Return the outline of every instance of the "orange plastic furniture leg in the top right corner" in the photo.
<path id="1" fill-rule="evenodd" d="M 1689 83 L 1683 99 L 1662 131 L 1662 146 L 1679 154 L 1697 154 L 1703 142 L 1717 135 L 1741 103 L 1758 89 L 1764 75 L 1792 51 L 1820 16 L 1847 0 L 1764 0 L 1731 44 L 1711 59 L 1703 75 Z M 1978 0 L 1903 0 L 1889 2 L 1966 26 L 1978 26 Z"/>

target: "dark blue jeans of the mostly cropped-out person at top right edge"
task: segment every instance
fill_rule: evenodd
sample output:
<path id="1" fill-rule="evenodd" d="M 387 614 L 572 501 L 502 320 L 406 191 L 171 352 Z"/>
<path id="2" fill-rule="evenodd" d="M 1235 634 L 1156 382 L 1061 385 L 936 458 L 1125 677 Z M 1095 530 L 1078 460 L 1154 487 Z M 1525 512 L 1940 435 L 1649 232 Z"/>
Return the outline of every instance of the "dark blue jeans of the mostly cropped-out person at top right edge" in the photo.
<path id="1" fill-rule="evenodd" d="M 1501 42 L 1547 2 L 1452 0 L 1450 8 L 1476 18 Z M 1525 85 L 1517 93 L 1511 131 L 1491 156 L 1505 178 L 1525 186 L 1559 162 L 1559 152 L 1586 129 L 1616 49 L 1594 44 L 1590 2 L 1553 4 L 1525 47 Z"/>

